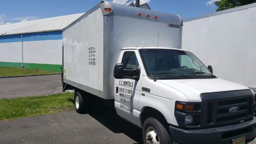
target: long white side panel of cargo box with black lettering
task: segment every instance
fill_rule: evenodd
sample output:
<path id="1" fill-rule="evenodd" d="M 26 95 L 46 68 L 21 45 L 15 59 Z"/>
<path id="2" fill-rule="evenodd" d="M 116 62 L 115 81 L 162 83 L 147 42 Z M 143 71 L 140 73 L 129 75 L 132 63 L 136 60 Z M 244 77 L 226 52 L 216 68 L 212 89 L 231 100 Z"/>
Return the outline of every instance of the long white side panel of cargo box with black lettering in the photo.
<path id="1" fill-rule="evenodd" d="M 63 32 L 64 82 L 103 97 L 103 15 L 95 10 Z"/>

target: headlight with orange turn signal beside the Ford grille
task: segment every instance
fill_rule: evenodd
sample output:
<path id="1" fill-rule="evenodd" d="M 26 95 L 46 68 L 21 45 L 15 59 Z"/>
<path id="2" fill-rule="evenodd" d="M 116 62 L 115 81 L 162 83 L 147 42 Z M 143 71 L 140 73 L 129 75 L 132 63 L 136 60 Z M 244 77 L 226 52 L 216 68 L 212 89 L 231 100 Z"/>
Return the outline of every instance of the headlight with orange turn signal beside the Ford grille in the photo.
<path id="1" fill-rule="evenodd" d="M 181 127 L 198 128 L 201 121 L 201 103 L 175 103 L 175 117 Z"/>

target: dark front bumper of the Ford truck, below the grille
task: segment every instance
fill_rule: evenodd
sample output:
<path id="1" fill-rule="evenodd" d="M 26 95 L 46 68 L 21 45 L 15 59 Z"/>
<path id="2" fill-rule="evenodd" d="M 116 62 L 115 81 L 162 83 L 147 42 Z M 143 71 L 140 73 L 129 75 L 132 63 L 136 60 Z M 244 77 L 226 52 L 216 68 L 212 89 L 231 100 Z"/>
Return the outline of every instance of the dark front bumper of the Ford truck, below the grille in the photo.
<path id="1" fill-rule="evenodd" d="M 256 117 L 253 118 L 239 124 L 198 130 L 169 126 L 169 131 L 173 143 L 178 144 L 231 144 L 241 136 L 245 136 L 247 143 L 256 136 Z"/>

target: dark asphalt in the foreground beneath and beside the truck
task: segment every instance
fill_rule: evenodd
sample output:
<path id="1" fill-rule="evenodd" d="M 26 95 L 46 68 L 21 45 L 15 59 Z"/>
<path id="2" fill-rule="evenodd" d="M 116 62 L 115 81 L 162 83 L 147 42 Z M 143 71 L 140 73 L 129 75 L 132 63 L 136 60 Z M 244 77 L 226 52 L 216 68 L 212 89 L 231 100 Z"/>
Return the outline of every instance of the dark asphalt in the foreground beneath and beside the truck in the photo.
<path id="1" fill-rule="evenodd" d="M 142 131 L 114 109 L 78 114 L 74 111 L 0 121 L 0 143 L 142 143 Z"/>

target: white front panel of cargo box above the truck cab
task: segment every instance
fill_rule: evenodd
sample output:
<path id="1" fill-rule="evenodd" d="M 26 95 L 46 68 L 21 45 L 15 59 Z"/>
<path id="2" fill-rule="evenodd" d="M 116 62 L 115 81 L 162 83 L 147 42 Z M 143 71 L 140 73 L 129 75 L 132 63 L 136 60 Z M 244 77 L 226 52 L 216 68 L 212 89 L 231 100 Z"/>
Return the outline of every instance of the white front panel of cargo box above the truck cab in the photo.
<path id="1" fill-rule="evenodd" d="M 159 47 L 179 48 L 180 28 L 168 27 L 167 23 L 119 15 L 108 16 L 104 22 L 106 28 L 110 30 L 105 35 L 108 37 L 104 37 L 109 41 L 109 46 L 104 47 L 104 51 L 108 53 L 108 60 L 111 61 L 110 64 L 104 62 L 110 70 L 110 72 L 104 73 L 105 76 L 108 76 L 108 86 L 105 86 L 104 90 L 108 89 L 104 92 L 104 95 L 110 98 L 113 98 L 115 91 L 113 70 L 123 48 L 154 47 L 157 46 L 157 42 Z M 111 31 L 112 29 L 113 31 Z M 108 30 L 105 29 L 105 31 Z M 104 83 L 104 85 L 106 84 Z"/>

